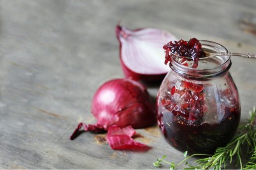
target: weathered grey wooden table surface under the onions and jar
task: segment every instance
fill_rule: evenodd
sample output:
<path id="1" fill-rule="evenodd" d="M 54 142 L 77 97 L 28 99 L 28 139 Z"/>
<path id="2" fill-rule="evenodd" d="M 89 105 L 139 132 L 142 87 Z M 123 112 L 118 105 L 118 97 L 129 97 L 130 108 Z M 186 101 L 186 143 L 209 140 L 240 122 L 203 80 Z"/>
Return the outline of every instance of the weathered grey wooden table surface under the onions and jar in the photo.
<path id="1" fill-rule="evenodd" d="M 1 0 L 0 168 L 151 169 L 163 154 L 178 162 L 183 154 L 157 127 L 137 130 L 137 140 L 152 147 L 147 152 L 112 150 L 89 132 L 69 140 L 78 122 L 95 122 L 96 89 L 123 77 L 115 25 L 157 27 L 255 53 L 255 9 L 255 0 Z M 232 62 L 244 122 L 256 105 L 256 60 Z"/>

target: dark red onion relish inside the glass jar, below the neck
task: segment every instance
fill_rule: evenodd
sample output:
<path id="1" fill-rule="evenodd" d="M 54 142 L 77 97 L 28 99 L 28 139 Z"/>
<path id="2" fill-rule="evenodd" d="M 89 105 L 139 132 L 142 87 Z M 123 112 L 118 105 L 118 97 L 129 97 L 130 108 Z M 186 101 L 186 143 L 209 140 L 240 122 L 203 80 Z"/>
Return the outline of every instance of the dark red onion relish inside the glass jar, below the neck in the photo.
<path id="1" fill-rule="evenodd" d="M 158 126 L 162 134 L 174 148 L 189 150 L 190 154 L 213 153 L 217 147 L 226 145 L 240 121 L 239 102 L 229 98 L 231 89 L 220 92 L 227 97 L 229 105 L 218 106 L 222 107 L 222 114 L 219 114 L 215 98 L 207 98 L 203 87 L 182 81 L 180 89 L 171 85 L 158 98 Z M 206 105 L 206 100 L 208 103 L 213 100 L 212 105 Z M 215 110 L 216 114 L 209 114 Z"/>

